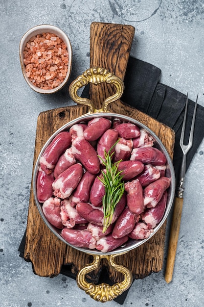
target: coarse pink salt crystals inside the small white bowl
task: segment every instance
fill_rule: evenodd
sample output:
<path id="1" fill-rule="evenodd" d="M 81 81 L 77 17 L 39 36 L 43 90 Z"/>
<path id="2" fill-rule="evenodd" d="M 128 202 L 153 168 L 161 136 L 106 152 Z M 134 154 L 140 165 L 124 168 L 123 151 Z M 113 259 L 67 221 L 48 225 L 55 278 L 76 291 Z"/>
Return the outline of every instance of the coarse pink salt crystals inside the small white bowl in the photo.
<path id="1" fill-rule="evenodd" d="M 68 72 L 68 51 L 64 41 L 52 33 L 31 37 L 23 51 L 25 73 L 42 89 L 59 86 Z"/>

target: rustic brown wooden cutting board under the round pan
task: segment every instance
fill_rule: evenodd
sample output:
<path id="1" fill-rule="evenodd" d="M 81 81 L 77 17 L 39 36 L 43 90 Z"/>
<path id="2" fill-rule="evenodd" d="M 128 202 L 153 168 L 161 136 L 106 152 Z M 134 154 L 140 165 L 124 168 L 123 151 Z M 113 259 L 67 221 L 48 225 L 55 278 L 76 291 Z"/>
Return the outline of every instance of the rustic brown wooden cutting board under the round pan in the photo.
<path id="1" fill-rule="evenodd" d="M 134 33 L 135 29 L 132 26 L 92 23 L 90 67 L 104 67 L 115 76 L 124 79 Z M 91 100 L 98 106 L 97 108 L 100 108 L 100 103 L 112 94 L 113 88 L 107 84 L 90 86 Z M 112 103 L 110 111 L 130 116 L 148 126 L 159 136 L 173 158 L 175 134 L 171 128 L 120 101 Z M 36 129 L 34 165 L 46 140 L 58 128 L 87 112 L 86 106 L 74 105 L 40 113 Z M 145 244 L 125 255 L 117 256 L 116 263 L 126 265 L 131 270 L 133 279 L 144 278 L 152 272 L 159 272 L 163 263 L 165 230 L 166 222 Z M 92 256 L 66 245 L 48 229 L 35 205 L 32 183 L 24 258 L 32 262 L 35 274 L 44 277 L 57 276 L 64 264 L 69 265 L 70 271 L 76 275 L 83 266 L 92 261 Z M 106 260 L 102 259 L 99 269 L 89 275 L 91 281 L 97 282 L 101 269 L 106 266 Z M 109 267 L 108 272 L 113 282 L 121 281 L 120 273 Z"/>

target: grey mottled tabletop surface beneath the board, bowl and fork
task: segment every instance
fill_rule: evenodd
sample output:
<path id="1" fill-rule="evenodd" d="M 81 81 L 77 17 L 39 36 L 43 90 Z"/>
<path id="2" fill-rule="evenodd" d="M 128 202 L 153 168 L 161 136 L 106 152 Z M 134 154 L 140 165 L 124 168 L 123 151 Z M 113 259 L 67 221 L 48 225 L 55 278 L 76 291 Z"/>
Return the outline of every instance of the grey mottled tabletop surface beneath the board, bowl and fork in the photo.
<path id="1" fill-rule="evenodd" d="M 0 306 L 102 306 L 62 275 L 34 275 L 19 257 L 26 229 L 37 117 L 70 105 L 68 88 L 53 96 L 32 91 L 21 73 L 19 43 L 39 24 L 62 28 L 73 47 L 71 80 L 89 68 L 93 21 L 135 26 L 131 54 L 156 65 L 161 82 L 204 106 L 203 0 L 0 0 Z M 163 270 L 133 283 L 124 306 L 204 306 L 204 142 L 186 174 L 173 281 Z M 169 222 L 168 222 L 169 224 Z M 169 226 L 168 226 L 169 227 Z M 166 256 L 166 251 L 165 251 Z M 119 306 L 115 302 L 106 306 Z"/>

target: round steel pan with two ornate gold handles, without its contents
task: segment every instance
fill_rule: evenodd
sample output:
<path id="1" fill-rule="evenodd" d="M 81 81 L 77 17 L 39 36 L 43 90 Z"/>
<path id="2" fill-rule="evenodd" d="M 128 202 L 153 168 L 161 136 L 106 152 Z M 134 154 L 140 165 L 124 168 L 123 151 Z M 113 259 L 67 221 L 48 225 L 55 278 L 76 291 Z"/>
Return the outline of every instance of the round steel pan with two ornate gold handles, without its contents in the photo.
<path id="1" fill-rule="evenodd" d="M 101 82 L 113 84 L 116 88 L 116 92 L 113 96 L 107 98 L 103 102 L 101 109 L 95 109 L 93 103 L 89 99 L 79 97 L 77 95 L 77 91 L 78 91 L 78 89 L 82 88 L 83 86 L 87 85 L 88 83 L 98 85 Z M 104 68 L 99 68 L 99 67 L 90 68 L 90 69 L 86 70 L 81 76 L 76 78 L 69 86 L 70 97 L 74 102 L 77 102 L 77 103 L 80 103 L 80 104 L 85 104 L 85 105 L 89 106 L 90 111 L 87 114 L 80 116 L 80 117 L 68 122 L 66 125 L 64 125 L 60 129 L 58 129 L 45 143 L 43 149 L 41 150 L 41 152 L 38 156 L 37 162 L 35 164 L 34 173 L 33 173 L 33 190 L 34 190 L 35 203 L 36 203 L 37 208 L 40 212 L 40 215 L 43 218 L 47 227 L 60 240 L 62 240 L 66 244 L 68 244 L 68 242 L 62 238 L 61 230 L 58 230 L 55 227 L 53 227 L 47 221 L 47 219 L 45 218 L 45 215 L 44 215 L 43 210 L 42 210 L 42 204 L 40 204 L 38 202 L 38 199 L 37 199 L 36 180 L 37 180 L 37 173 L 38 173 L 38 169 L 39 169 L 39 165 L 40 165 L 40 158 L 41 158 L 42 154 L 44 153 L 45 148 L 51 143 L 53 138 L 59 132 L 68 131 L 69 128 L 71 126 L 75 125 L 75 124 L 79 124 L 81 122 L 87 122 L 87 121 L 89 121 L 93 118 L 96 118 L 96 117 L 106 117 L 106 118 L 109 118 L 109 119 L 118 119 L 121 122 L 131 122 L 133 124 L 136 124 L 139 128 L 143 128 L 147 132 L 149 132 L 154 138 L 154 147 L 158 148 L 162 153 L 165 154 L 165 156 L 166 156 L 166 175 L 165 176 L 169 177 L 171 179 L 171 184 L 170 184 L 170 187 L 168 188 L 167 205 L 166 205 L 166 210 L 165 210 L 165 213 L 164 213 L 162 220 L 154 228 L 154 231 L 152 232 L 152 234 L 149 236 L 148 239 L 150 239 L 159 230 L 159 228 L 162 226 L 162 224 L 166 220 L 166 218 L 167 218 L 167 216 L 170 212 L 171 206 L 173 204 L 174 193 L 175 193 L 174 167 L 173 167 L 172 160 L 171 160 L 168 152 L 166 151 L 164 145 L 162 144 L 162 142 L 160 141 L 158 136 L 152 130 L 150 130 L 148 127 L 146 127 L 142 123 L 138 122 L 137 120 L 132 119 L 131 117 L 124 116 L 124 115 L 121 115 L 121 114 L 111 113 L 111 112 L 107 111 L 108 104 L 118 100 L 122 96 L 123 90 L 124 90 L 123 81 L 120 78 L 113 76 L 112 73 L 110 73 L 108 70 L 106 70 Z M 116 264 L 114 262 L 114 258 L 116 256 L 128 253 L 132 249 L 135 249 L 136 247 L 140 246 L 141 244 L 144 244 L 148 239 L 143 239 L 143 240 L 129 239 L 129 241 L 126 244 L 124 244 L 123 246 L 120 246 L 120 247 L 116 248 L 115 250 L 113 250 L 111 252 L 107 252 L 107 253 L 102 253 L 98 250 L 90 250 L 88 248 L 79 248 L 79 247 L 75 247 L 73 245 L 68 244 L 71 247 L 73 247 L 73 248 L 75 248 L 79 251 L 82 251 L 84 253 L 87 253 L 87 254 L 93 256 L 93 262 L 91 264 L 87 264 L 86 266 L 84 266 L 78 272 L 77 278 L 76 278 L 78 286 L 81 289 L 85 290 L 85 292 L 87 294 L 89 294 L 91 296 L 91 298 L 93 298 L 96 301 L 100 301 L 100 302 L 111 301 L 114 298 L 116 298 L 118 295 L 122 294 L 122 292 L 124 292 L 125 290 L 127 290 L 131 286 L 132 281 L 133 281 L 133 277 L 132 277 L 131 271 L 125 266 L 121 266 L 121 265 Z M 119 271 L 123 274 L 123 276 L 124 276 L 123 281 L 117 282 L 117 283 L 113 284 L 112 286 L 110 286 L 107 283 L 101 283 L 99 285 L 95 285 L 92 282 L 89 283 L 89 282 L 86 281 L 86 274 L 95 270 L 99 266 L 100 260 L 102 258 L 106 258 L 110 267 L 112 267 L 114 270 Z"/>

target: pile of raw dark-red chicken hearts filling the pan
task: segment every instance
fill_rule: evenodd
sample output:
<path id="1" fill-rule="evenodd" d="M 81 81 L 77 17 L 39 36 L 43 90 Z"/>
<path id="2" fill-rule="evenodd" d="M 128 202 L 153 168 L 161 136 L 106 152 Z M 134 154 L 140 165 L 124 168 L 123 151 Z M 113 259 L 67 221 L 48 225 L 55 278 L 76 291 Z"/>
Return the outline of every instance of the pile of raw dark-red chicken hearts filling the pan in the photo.
<path id="1" fill-rule="evenodd" d="M 113 146 L 116 143 L 115 146 Z M 100 178 L 113 146 L 125 191 L 104 231 Z M 170 179 L 166 157 L 143 128 L 96 117 L 59 132 L 45 148 L 37 174 L 37 198 L 46 219 L 71 245 L 110 252 L 129 238 L 146 239 L 162 220 Z"/>

